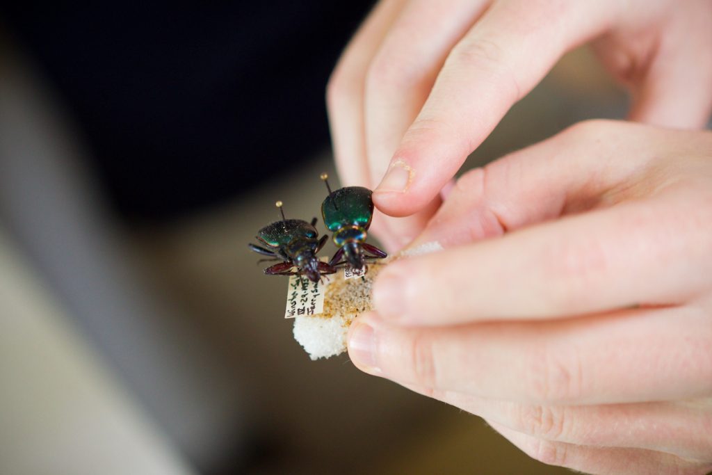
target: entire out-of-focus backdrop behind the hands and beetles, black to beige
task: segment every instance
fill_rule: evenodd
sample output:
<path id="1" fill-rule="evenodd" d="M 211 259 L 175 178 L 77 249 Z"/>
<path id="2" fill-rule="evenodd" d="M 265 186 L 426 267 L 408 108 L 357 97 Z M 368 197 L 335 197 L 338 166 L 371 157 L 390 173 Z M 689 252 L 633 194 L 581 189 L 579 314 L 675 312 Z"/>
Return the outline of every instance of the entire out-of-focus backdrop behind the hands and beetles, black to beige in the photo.
<path id="1" fill-rule="evenodd" d="M 319 213 L 371 4 L 0 6 L 1 474 L 569 473 L 310 361 L 247 249 L 276 199 Z M 464 169 L 625 106 L 574 51 Z"/>

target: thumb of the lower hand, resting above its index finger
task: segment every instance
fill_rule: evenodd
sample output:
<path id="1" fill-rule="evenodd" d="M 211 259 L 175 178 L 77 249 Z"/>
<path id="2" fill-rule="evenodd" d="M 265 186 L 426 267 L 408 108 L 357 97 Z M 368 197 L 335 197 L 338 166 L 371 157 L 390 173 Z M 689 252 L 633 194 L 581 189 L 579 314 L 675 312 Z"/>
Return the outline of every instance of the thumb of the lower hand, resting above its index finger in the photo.
<path id="1" fill-rule="evenodd" d="M 628 198 L 637 191 L 629 184 L 646 177 L 652 151 L 666 147 L 651 141 L 649 129 L 640 125 L 580 122 L 463 174 L 411 246 L 468 244 Z"/>

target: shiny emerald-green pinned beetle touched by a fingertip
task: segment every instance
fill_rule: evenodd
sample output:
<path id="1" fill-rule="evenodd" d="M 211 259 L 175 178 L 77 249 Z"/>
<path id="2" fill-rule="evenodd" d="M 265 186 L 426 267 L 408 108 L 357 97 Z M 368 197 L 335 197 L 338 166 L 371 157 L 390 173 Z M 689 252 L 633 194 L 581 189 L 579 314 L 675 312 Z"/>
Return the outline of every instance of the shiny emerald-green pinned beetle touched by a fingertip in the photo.
<path id="1" fill-rule="evenodd" d="M 362 269 L 366 259 L 383 259 L 384 251 L 366 243 L 367 230 L 373 218 L 371 190 L 364 187 L 343 187 L 335 192 L 329 186 L 328 174 L 322 173 L 321 179 L 329 190 L 321 205 L 324 224 L 334 233 L 334 244 L 339 248 L 334 254 L 330 266 L 349 263 L 353 268 Z M 345 256 L 346 260 L 341 261 Z"/>

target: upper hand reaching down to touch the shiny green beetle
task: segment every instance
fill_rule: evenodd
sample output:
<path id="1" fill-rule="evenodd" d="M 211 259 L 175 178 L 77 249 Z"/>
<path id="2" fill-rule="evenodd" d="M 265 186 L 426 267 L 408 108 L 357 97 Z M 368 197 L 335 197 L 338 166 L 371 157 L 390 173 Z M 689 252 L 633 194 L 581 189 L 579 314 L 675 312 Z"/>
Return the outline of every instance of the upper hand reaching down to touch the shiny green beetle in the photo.
<path id="1" fill-rule="evenodd" d="M 632 91 L 630 118 L 701 127 L 712 107 L 708 0 L 384 0 L 328 86 L 344 184 L 375 189 L 373 233 L 422 231 L 467 155 L 563 53 L 592 41 Z M 384 174 L 389 174 L 382 180 Z"/>

